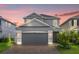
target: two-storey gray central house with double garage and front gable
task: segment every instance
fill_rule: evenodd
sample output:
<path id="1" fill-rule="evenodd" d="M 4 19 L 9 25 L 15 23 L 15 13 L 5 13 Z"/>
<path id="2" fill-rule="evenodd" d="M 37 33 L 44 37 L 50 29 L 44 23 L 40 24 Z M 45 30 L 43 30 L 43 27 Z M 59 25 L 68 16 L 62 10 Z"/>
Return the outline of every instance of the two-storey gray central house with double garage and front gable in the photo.
<path id="1" fill-rule="evenodd" d="M 24 24 L 16 28 L 16 43 L 22 45 L 53 44 L 60 31 L 59 18 L 32 13 L 24 19 Z"/>

